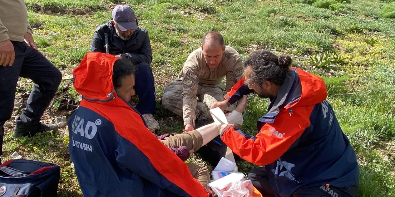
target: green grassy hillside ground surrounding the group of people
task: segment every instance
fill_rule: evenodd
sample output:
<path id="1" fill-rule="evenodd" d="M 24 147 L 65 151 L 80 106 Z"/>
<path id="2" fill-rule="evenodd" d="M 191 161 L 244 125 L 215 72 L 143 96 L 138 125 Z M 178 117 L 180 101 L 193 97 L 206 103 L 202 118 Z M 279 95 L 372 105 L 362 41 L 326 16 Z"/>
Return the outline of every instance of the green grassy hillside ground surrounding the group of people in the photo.
<path id="1" fill-rule="evenodd" d="M 96 27 L 111 19 L 113 0 L 25 0 L 33 37 L 40 51 L 63 72 L 72 75 L 88 52 Z M 256 49 L 290 54 L 293 65 L 322 76 L 328 101 L 349 136 L 360 165 L 359 197 L 395 196 L 395 19 L 383 18 L 390 0 L 351 0 L 338 9 L 315 7 L 297 0 L 124 0 L 149 31 L 158 98 L 177 78 L 188 54 L 201 45 L 208 31 L 222 33 L 226 45 L 245 59 Z M 335 3 L 335 2 L 333 2 Z M 319 64 L 328 54 L 327 64 Z M 317 59 L 318 58 L 318 59 Z M 315 65 L 316 64 L 316 65 Z M 313 66 L 316 66 L 313 68 Z M 318 66 L 319 65 L 319 66 Z M 43 119 L 51 123 L 68 116 L 79 103 L 70 78 L 62 81 Z M 26 99 L 32 82 L 18 82 L 17 99 Z M 13 112 L 19 115 L 23 105 Z M 249 100 L 242 130 L 254 135 L 256 120 L 267 100 Z M 182 119 L 157 103 L 162 130 L 181 132 Z M 11 137 L 5 126 L 4 158 L 17 151 L 24 158 L 61 165 L 59 196 L 82 197 L 68 154 L 67 128 L 34 138 Z M 384 159 L 388 158 L 388 159 Z M 188 162 L 207 165 L 193 154 Z M 238 162 L 248 173 L 253 164 Z M 209 167 L 210 168 L 210 167 Z"/>

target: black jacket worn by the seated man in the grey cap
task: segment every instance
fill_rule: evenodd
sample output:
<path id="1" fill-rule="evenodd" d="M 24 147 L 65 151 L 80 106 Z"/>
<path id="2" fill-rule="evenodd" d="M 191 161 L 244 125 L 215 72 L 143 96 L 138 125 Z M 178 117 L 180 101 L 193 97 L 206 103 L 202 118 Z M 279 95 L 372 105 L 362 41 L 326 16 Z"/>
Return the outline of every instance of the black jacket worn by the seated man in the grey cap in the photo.
<path id="1" fill-rule="evenodd" d="M 115 27 L 111 21 L 108 21 L 96 28 L 92 45 L 90 45 L 90 52 L 106 52 L 104 33 L 108 33 L 109 54 L 126 54 L 135 63 L 146 62 L 150 64 L 152 62 L 152 49 L 146 29 L 135 30 L 130 40 L 123 41 L 115 32 Z"/>

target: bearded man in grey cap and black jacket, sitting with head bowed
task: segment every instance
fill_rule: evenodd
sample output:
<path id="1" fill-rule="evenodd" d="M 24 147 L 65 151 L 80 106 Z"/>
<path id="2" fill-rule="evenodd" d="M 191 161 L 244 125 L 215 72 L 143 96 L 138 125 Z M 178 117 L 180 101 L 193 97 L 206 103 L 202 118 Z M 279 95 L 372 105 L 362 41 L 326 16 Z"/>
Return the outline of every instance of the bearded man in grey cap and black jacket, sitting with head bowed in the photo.
<path id="1" fill-rule="evenodd" d="M 105 53 L 107 50 L 109 54 L 130 59 L 137 65 L 135 91 L 139 102 L 136 109 L 143 115 L 149 130 L 158 130 L 159 123 L 152 115 L 155 113 L 155 84 L 150 67 L 152 49 L 148 31 L 138 27 L 138 20 L 129 6 L 116 6 L 112 19 L 94 32 L 90 52 Z"/>

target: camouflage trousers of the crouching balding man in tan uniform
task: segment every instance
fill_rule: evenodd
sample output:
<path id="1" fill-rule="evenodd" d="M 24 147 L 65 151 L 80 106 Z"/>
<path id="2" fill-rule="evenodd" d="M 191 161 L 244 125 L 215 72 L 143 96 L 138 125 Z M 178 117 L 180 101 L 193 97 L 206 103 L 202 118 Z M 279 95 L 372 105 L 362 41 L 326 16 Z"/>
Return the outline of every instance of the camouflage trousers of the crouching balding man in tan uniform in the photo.
<path id="1" fill-rule="evenodd" d="M 215 102 L 224 100 L 224 93 L 222 93 L 224 89 L 225 85 L 223 83 L 216 85 L 198 84 L 196 117 L 212 120 L 213 117 L 211 117 L 209 110 Z M 182 80 L 172 81 L 163 90 L 162 97 L 162 105 L 181 117 L 183 117 L 181 96 L 183 91 Z"/>

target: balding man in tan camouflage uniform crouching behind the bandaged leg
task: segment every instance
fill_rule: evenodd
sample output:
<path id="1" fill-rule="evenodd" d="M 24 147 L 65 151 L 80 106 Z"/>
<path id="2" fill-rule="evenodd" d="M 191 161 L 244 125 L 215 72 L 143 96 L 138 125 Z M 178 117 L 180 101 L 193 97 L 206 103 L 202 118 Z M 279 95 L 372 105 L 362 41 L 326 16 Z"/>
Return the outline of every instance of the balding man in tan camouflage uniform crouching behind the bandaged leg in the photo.
<path id="1" fill-rule="evenodd" d="M 170 82 L 164 89 L 162 104 L 184 118 L 184 130 L 194 130 L 196 117 L 212 119 L 209 110 L 224 100 L 223 91 L 241 79 L 243 66 L 240 54 L 218 32 L 209 32 L 203 37 L 202 46 L 192 52 L 179 79 Z M 226 76 L 226 87 L 221 82 Z"/>

